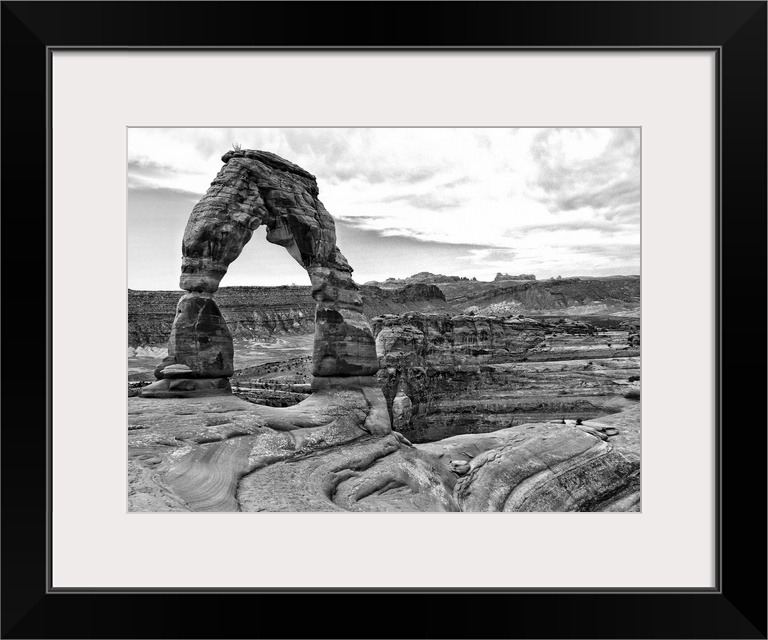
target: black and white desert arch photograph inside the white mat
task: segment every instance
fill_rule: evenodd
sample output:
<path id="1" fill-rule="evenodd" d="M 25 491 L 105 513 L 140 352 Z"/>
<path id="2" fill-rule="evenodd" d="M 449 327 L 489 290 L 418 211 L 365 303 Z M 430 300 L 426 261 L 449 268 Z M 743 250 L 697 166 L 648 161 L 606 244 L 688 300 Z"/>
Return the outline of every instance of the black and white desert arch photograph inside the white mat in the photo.
<path id="1" fill-rule="evenodd" d="M 639 127 L 127 132 L 129 512 L 640 512 Z"/>

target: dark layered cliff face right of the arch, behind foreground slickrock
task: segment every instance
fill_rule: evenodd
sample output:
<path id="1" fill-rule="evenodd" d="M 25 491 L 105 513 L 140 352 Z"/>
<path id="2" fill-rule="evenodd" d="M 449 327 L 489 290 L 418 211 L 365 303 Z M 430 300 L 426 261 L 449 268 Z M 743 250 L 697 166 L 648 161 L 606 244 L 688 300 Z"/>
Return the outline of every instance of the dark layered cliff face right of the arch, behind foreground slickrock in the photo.
<path id="1" fill-rule="evenodd" d="M 393 428 L 413 442 L 593 418 L 640 398 L 639 332 L 623 319 L 409 313 L 372 325 Z"/>

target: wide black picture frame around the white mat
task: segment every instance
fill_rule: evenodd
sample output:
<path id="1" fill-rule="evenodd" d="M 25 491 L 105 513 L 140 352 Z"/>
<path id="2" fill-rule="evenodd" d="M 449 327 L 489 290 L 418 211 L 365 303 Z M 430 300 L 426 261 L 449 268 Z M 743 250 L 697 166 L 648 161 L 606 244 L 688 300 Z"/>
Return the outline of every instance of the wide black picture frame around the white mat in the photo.
<path id="1" fill-rule="evenodd" d="M 765 405 L 754 399 L 764 400 L 766 389 L 766 8 L 764 1 L 2 2 L 2 264 L 11 309 L 6 335 L 13 337 L 4 342 L 2 637 L 766 638 Z M 717 586 L 51 590 L 52 249 L 43 238 L 50 225 L 49 62 L 52 50 L 65 47 L 717 52 Z M 752 296 L 749 318 L 741 314 L 737 329 L 745 295 Z M 39 371 L 45 362 L 45 377 L 24 373 L 20 365 L 30 362 Z M 599 548 L 594 553 L 600 561 Z"/>

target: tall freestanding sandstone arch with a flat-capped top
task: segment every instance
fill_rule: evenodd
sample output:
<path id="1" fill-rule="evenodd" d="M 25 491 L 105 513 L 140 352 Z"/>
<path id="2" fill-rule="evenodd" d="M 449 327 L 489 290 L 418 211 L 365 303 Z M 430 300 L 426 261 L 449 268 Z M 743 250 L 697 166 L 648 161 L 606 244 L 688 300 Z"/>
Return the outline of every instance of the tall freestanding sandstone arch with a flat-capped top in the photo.
<path id="1" fill-rule="evenodd" d="M 285 247 L 309 274 L 316 302 L 313 375 L 372 377 L 379 369 L 373 335 L 315 177 L 266 151 L 230 151 L 222 161 L 187 222 L 179 282 L 187 293 L 177 306 L 168 357 L 155 370 L 158 381 L 142 395 L 231 393 L 232 335 L 213 295 L 261 225 L 267 240 Z M 324 387 L 320 381 L 316 386 Z"/>

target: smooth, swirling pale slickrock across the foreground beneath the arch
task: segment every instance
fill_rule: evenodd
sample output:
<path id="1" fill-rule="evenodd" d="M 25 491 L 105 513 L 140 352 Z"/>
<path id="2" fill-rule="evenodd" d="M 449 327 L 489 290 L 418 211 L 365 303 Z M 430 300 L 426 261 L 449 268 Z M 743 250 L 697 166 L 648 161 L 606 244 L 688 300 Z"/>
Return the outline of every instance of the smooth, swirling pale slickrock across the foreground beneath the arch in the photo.
<path id="1" fill-rule="evenodd" d="M 366 384 L 326 379 L 286 409 L 129 398 L 129 510 L 639 510 L 637 411 L 607 439 L 537 423 L 414 446 Z"/>

